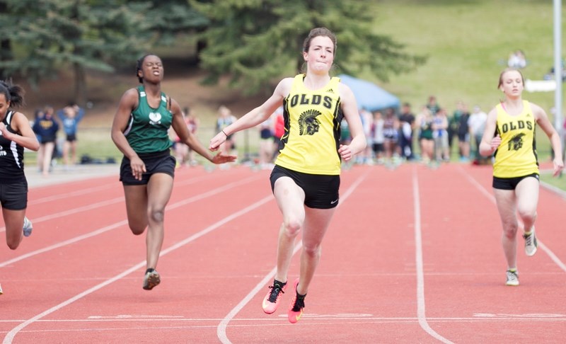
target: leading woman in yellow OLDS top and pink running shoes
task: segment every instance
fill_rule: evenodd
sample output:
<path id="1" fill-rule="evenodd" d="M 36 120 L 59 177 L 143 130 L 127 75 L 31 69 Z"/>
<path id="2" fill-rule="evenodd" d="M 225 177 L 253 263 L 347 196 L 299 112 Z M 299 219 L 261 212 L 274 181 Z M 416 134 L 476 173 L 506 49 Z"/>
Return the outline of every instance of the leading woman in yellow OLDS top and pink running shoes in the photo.
<path id="1" fill-rule="evenodd" d="M 287 288 L 294 239 L 302 231 L 300 277 L 294 282 L 288 311 L 291 323 L 299 321 L 303 313 L 304 296 L 320 259 L 320 244 L 338 204 L 340 159 L 348 161 L 366 147 L 354 93 L 329 74 L 335 51 L 336 38 L 330 30 L 311 30 L 303 44 L 306 73 L 282 79 L 265 103 L 210 141 L 210 149 L 218 149 L 227 136 L 259 125 L 283 103 L 284 146 L 270 177 L 283 224 L 275 281 L 262 306 L 267 314 L 277 309 L 279 297 Z M 342 117 L 352 132 L 348 145 L 338 141 Z"/>

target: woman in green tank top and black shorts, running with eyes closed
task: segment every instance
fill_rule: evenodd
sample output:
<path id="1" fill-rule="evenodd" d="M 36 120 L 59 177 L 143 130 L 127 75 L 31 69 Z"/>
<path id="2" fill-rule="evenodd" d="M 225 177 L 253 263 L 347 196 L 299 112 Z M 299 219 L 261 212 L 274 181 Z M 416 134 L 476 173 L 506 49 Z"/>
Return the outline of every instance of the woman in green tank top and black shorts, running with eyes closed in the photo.
<path id="1" fill-rule="evenodd" d="M 124 185 L 129 228 L 144 233 L 147 227 L 147 267 L 144 289 L 159 284 L 155 270 L 163 244 L 163 217 L 173 190 L 175 158 L 171 156 L 168 130 L 214 164 L 234 161 L 236 156 L 212 155 L 187 129 L 179 104 L 161 92 L 163 64 L 156 55 L 137 61 L 141 86 L 127 90 L 112 123 L 112 140 L 124 154 L 120 181 Z"/>

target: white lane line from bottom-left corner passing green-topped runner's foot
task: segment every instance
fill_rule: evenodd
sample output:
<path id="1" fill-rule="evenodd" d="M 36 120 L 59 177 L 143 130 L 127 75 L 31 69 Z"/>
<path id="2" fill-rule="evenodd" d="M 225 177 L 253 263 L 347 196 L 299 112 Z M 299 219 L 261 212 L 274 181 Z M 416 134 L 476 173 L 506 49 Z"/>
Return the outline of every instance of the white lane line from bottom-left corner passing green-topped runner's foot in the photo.
<path id="1" fill-rule="evenodd" d="M 223 224 L 231 222 L 233 219 L 236 219 L 237 217 L 241 217 L 243 214 L 246 214 L 246 213 L 254 210 L 257 207 L 264 205 L 265 203 L 272 200 L 272 197 L 273 197 L 272 195 L 269 195 L 267 197 L 263 197 L 261 200 L 253 203 L 252 205 L 249 205 L 248 207 L 245 207 L 242 210 L 239 210 L 238 212 L 234 212 L 233 214 L 229 215 L 228 217 L 221 219 L 219 222 L 216 222 L 216 223 L 212 224 L 211 226 L 209 226 L 205 229 L 202 229 L 202 231 L 199 231 L 199 232 L 193 234 L 192 236 L 189 236 L 187 239 L 185 239 L 183 241 L 179 241 L 178 243 L 175 243 L 175 245 L 166 248 L 165 250 L 161 251 L 159 256 L 160 257 L 165 256 L 167 253 L 170 253 L 171 251 L 175 251 L 177 248 L 183 247 L 187 243 L 190 243 L 191 241 L 195 241 L 196 239 L 200 238 L 201 236 L 204 236 L 205 234 L 208 234 L 211 231 L 214 231 L 214 229 L 221 227 Z M 146 261 L 143 260 L 143 261 L 137 263 L 137 265 L 132 266 L 132 268 L 129 268 L 129 269 L 125 270 L 124 272 L 122 272 L 118 275 L 115 275 L 114 277 L 112 277 L 108 280 L 105 280 L 104 282 L 102 282 L 102 283 L 100 283 L 100 284 L 98 284 L 94 287 L 91 287 L 90 289 L 87 289 L 84 292 L 81 292 L 80 294 L 76 294 L 74 297 L 67 299 L 67 301 L 64 301 L 60 304 L 57 304 L 56 306 L 53 306 L 50 309 L 47 309 L 46 311 L 43 311 L 42 313 L 37 314 L 36 316 L 33 316 L 33 318 L 24 321 L 23 323 L 19 324 L 15 328 L 13 328 L 10 332 L 8 332 L 6 334 L 6 337 L 4 337 L 4 341 L 2 343 L 3 344 L 12 343 L 13 338 L 16 336 L 16 334 L 18 334 L 19 331 L 21 331 L 23 328 L 30 325 L 31 323 L 34 323 L 35 321 L 42 319 L 44 316 L 52 314 L 54 311 L 58 311 L 59 309 L 62 309 L 64 306 L 68 306 L 69 304 L 72 304 L 73 302 L 75 302 L 79 299 L 82 299 L 83 297 L 86 297 L 88 294 L 96 292 L 96 291 L 102 289 L 103 287 L 110 285 L 111 283 L 116 282 L 117 280 L 120 280 L 123 277 L 126 277 L 127 275 L 129 275 L 130 273 L 133 273 L 134 271 L 137 271 L 141 268 L 144 268 L 145 265 L 146 265 Z"/>

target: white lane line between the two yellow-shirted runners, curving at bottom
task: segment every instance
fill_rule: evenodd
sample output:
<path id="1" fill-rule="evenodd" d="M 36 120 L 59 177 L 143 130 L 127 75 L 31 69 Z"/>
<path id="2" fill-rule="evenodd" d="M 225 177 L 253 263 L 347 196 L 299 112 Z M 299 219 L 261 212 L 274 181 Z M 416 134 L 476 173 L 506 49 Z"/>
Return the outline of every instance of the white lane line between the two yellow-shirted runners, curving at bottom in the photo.
<path id="1" fill-rule="evenodd" d="M 420 327 L 430 336 L 436 338 L 442 343 L 452 343 L 450 340 L 440 336 L 434 331 L 427 322 L 427 314 L 424 302 L 424 270 L 422 264 L 422 229 L 420 217 L 420 193 L 419 178 L 417 177 L 417 169 L 412 168 L 412 199 L 415 208 L 415 265 L 417 270 L 417 318 Z"/>

